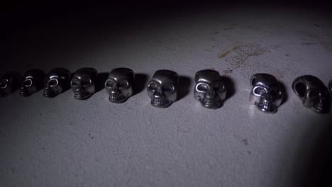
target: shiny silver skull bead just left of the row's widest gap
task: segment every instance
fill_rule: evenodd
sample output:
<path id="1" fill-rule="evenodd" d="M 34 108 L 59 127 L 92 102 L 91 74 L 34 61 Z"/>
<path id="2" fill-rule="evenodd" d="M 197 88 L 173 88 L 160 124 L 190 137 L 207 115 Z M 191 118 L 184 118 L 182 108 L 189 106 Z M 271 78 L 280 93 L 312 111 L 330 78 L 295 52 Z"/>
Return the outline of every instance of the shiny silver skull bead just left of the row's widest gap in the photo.
<path id="1" fill-rule="evenodd" d="M 204 69 L 195 74 L 194 98 L 205 108 L 218 108 L 226 98 L 226 85 L 219 72 Z"/>

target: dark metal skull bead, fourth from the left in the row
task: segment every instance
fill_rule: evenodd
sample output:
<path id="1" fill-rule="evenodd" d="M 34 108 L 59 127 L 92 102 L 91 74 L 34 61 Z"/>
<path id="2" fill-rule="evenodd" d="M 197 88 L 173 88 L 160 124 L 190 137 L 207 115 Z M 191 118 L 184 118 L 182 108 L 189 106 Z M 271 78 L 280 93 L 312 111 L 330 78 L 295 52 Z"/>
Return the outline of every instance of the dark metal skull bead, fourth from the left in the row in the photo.
<path id="1" fill-rule="evenodd" d="M 84 100 L 96 91 L 97 71 L 91 67 L 78 69 L 70 81 L 74 98 Z"/>

